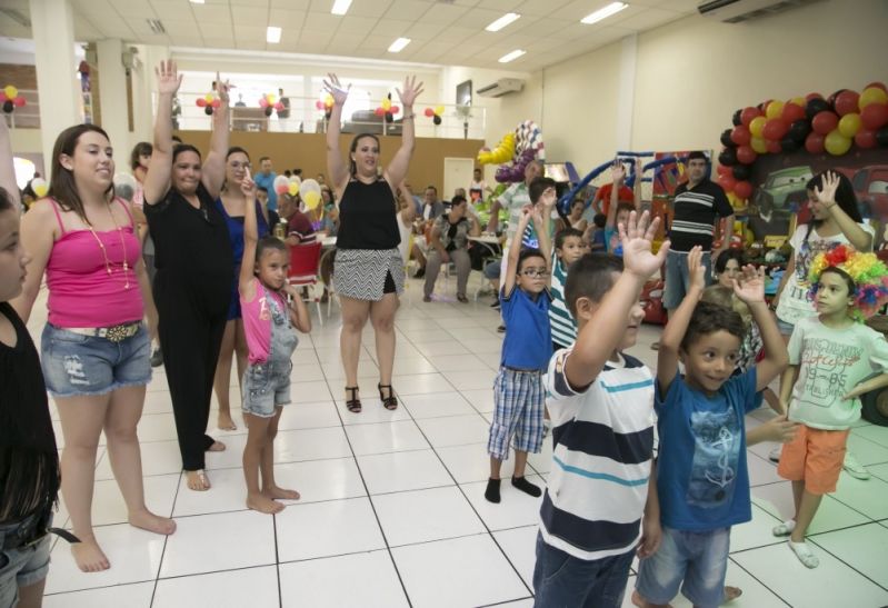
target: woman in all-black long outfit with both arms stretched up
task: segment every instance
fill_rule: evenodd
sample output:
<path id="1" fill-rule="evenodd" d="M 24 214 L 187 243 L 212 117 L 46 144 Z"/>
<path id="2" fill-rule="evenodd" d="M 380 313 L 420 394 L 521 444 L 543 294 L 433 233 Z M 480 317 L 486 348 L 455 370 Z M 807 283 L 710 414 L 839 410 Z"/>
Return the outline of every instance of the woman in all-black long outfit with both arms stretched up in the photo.
<path id="1" fill-rule="evenodd" d="M 217 76 L 221 106 L 201 167 L 197 148 L 172 146 L 172 99 L 182 81 L 176 63 L 167 60 L 156 71 L 158 111 L 144 212 L 156 248 L 158 333 L 188 487 L 208 490 L 203 452 L 225 449 L 207 435 L 207 421 L 235 271 L 228 228 L 214 205 L 225 181 L 228 83 Z"/>

